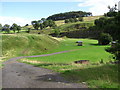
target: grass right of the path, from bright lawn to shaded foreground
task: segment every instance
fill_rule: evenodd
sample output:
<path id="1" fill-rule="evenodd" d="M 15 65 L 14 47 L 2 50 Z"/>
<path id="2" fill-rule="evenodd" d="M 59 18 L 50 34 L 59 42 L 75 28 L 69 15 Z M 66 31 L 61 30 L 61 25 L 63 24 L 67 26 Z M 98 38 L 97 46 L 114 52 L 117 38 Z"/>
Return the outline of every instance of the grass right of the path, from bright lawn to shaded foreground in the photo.
<path id="1" fill-rule="evenodd" d="M 83 41 L 83 46 L 77 46 L 76 41 Z M 61 73 L 67 80 L 86 83 L 90 88 L 116 88 L 118 66 L 107 64 L 112 60 L 111 54 L 104 50 L 107 47 L 110 46 L 97 45 L 97 40 L 93 39 L 62 38 L 57 49 L 45 54 L 65 50 L 73 51 L 46 57 L 24 58 L 19 61 L 52 69 Z M 90 60 L 90 63 L 75 64 L 76 60 Z M 101 60 L 103 63 L 100 63 Z"/>

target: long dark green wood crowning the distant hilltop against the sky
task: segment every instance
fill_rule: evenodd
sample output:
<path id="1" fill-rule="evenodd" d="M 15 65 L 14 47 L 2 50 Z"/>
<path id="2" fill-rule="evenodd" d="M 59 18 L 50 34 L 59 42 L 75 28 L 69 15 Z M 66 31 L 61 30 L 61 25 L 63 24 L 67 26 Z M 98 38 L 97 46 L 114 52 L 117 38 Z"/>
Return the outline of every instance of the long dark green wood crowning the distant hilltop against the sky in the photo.
<path id="1" fill-rule="evenodd" d="M 47 20 L 65 20 L 70 18 L 78 18 L 78 17 L 85 17 L 85 16 L 92 16 L 91 12 L 83 12 L 83 11 L 72 11 L 72 12 L 66 12 L 66 13 L 59 13 L 54 14 L 52 16 L 49 16 Z"/>

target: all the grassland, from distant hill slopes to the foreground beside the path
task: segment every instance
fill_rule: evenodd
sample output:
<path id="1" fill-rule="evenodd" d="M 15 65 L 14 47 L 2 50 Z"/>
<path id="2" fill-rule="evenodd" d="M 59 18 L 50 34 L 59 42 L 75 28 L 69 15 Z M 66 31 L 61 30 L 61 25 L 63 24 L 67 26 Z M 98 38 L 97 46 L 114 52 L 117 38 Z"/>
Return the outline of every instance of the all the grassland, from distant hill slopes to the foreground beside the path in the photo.
<path id="1" fill-rule="evenodd" d="M 76 24 L 86 24 L 87 27 L 94 25 L 94 20 L 102 16 L 84 17 L 83 22 L 64 23 L 64 20 L 55 21 L 61 32 L 76 30 Z M 88 24 L 87 24 L 88 23 Z M 27 26 L 32 28 L 32 25 Z M 31 30 L 26 33 L 24 28 L 20 33 L 2 35 L 2 62 L 9 58 L 19 56 L 33 56 L 51 54 L 61 51 L 66 53 L 55 54 L 45 57 L 22 58 L 19 62 L 32 64 L 37 67 L 51 69 L 60 73 L 68 81 L 84 83 L 90 88 L 117 88 L 118 65 L 110 64 L 112 54 L 105 51 L 111 45 L 98 45 L 94 39 L 82 38 L 55 38 L 48 34 L 54 33 L 54 29 Z M 5 33 L 5 32 L 2 32 Z M 37 33 L 37 34 L 35 34 Z M 38 34 L 40 33 L 40 34 Z M 76 35 L 76 34 L 75 34 Z M 77 46 L 76 41 L 83 41 L 83 46 Z M 74 61 L 89 60 L 88 64 L 75 64 Z"/>

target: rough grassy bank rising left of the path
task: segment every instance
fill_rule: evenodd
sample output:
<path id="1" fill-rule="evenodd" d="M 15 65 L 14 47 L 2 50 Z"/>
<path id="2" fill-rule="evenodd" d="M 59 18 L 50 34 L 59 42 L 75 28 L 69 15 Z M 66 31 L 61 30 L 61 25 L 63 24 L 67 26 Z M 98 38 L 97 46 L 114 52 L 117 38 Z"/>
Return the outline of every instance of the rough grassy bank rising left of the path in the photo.
<path id="1" fill-rule="evenodd" d="M 47 35 L 6 34 L 2 35 L 4 57 L 36 55 L 56 48 L 58 41 Z"/>

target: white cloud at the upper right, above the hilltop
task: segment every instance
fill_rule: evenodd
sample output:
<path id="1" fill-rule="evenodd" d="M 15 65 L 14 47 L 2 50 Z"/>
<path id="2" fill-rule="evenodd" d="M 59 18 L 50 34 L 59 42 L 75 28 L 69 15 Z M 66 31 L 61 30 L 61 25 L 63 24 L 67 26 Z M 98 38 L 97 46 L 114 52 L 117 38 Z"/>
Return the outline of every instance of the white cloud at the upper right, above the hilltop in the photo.
<path id="1" fill-rule="evenodd" d="M 118 4 L 120 0 L 80 0 L 79 7 L 89 7 L 88 11 L 93 15 L 103 15 L 108 12 L 108 5 L 114 6 Z"/>

